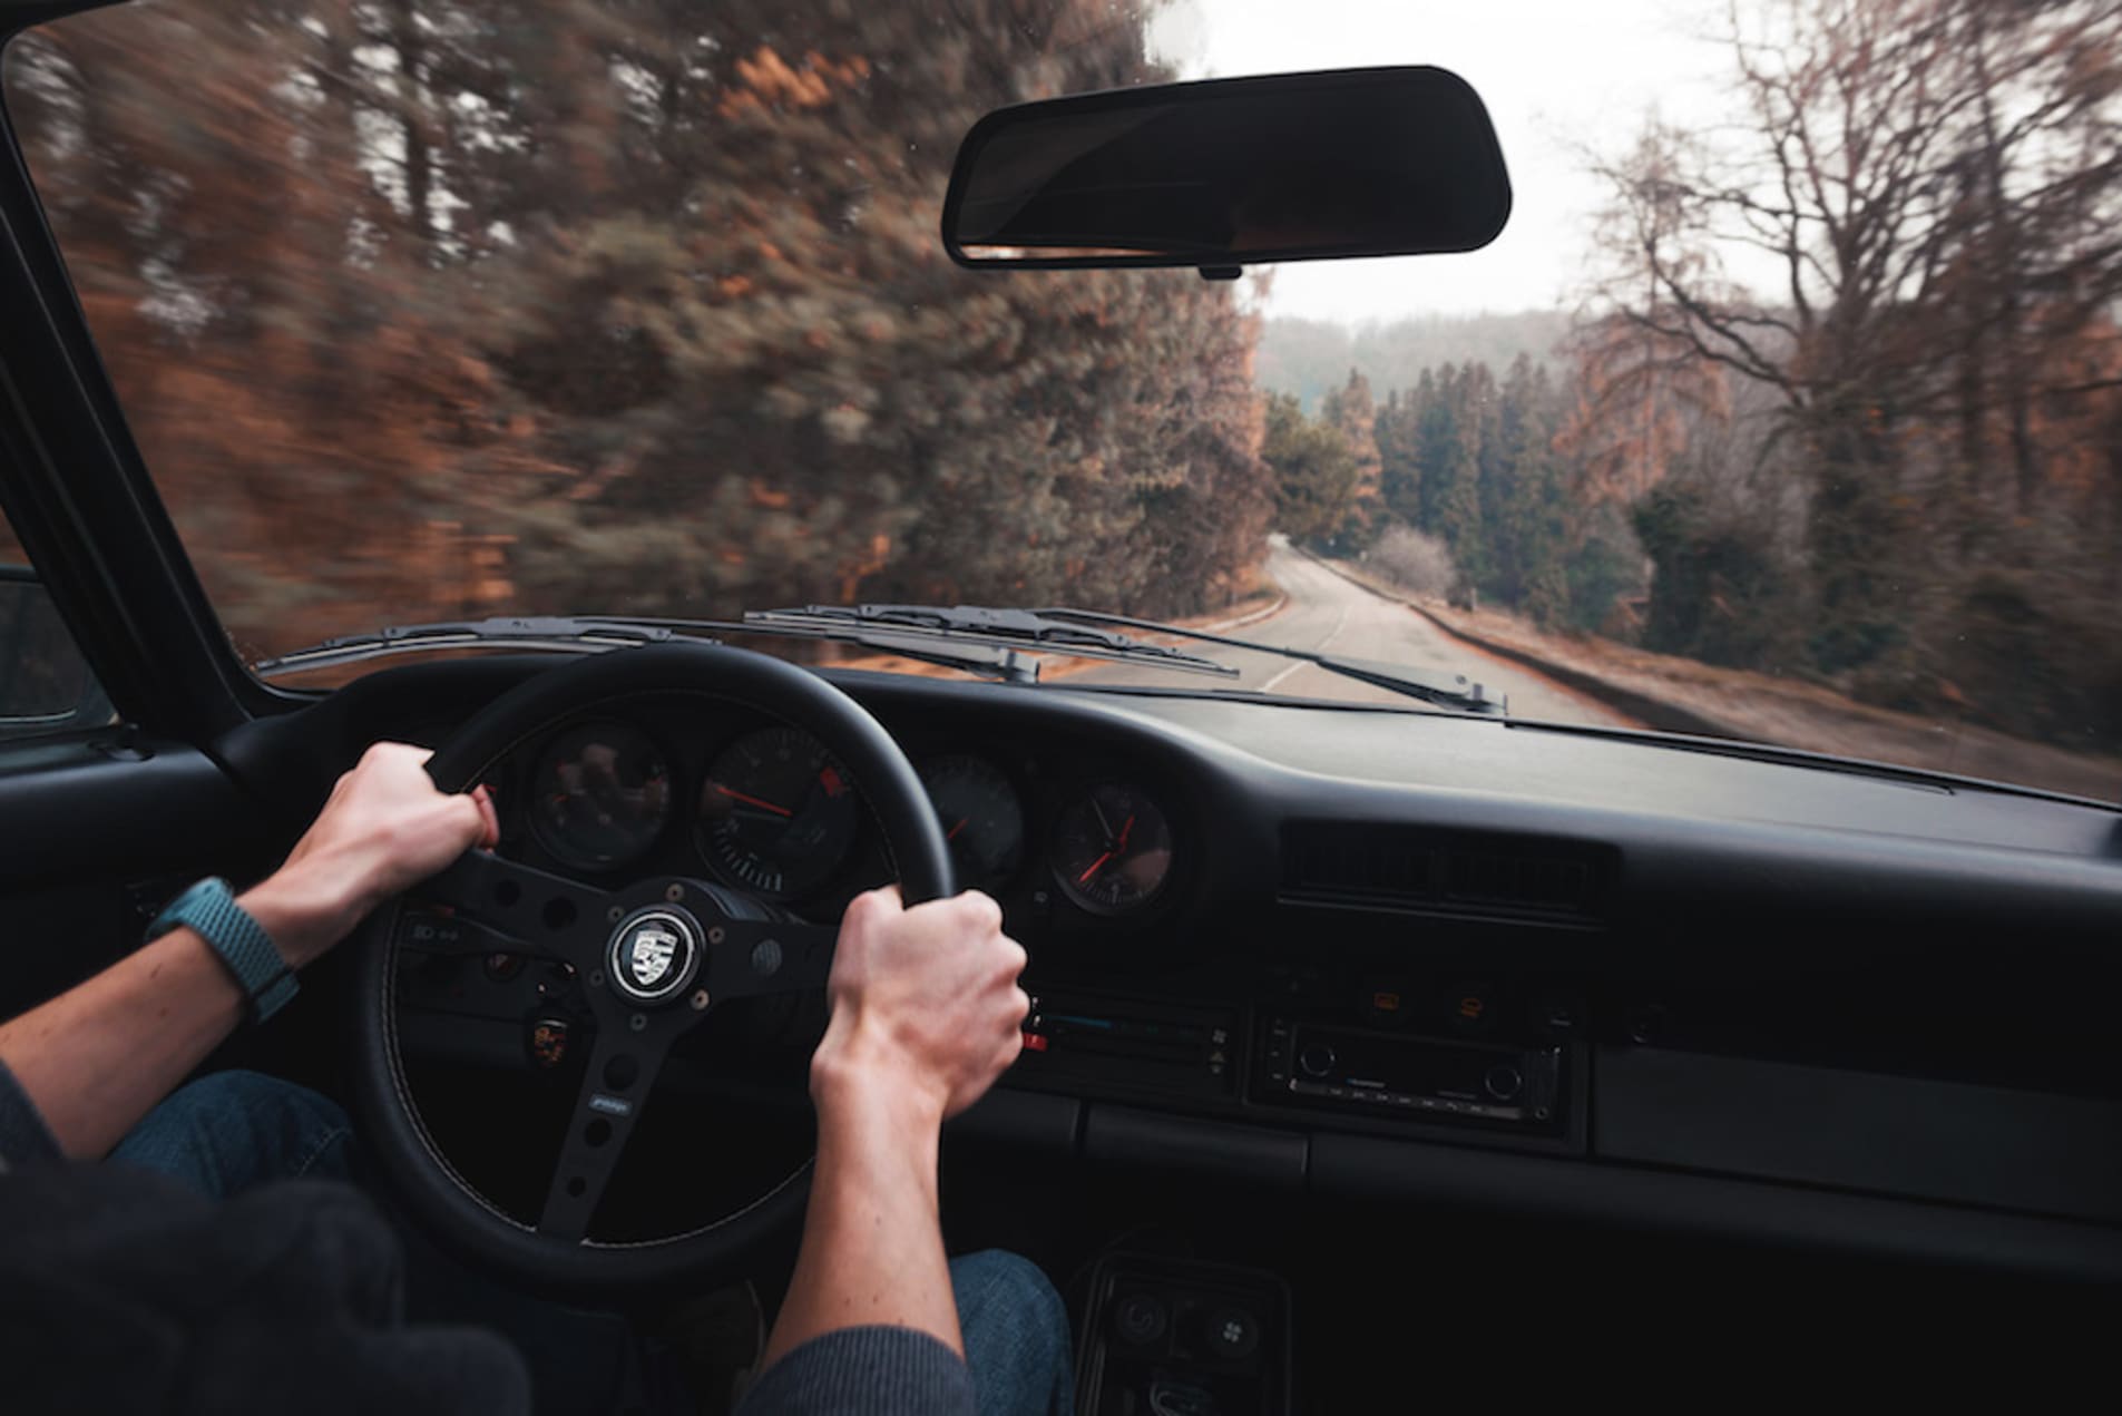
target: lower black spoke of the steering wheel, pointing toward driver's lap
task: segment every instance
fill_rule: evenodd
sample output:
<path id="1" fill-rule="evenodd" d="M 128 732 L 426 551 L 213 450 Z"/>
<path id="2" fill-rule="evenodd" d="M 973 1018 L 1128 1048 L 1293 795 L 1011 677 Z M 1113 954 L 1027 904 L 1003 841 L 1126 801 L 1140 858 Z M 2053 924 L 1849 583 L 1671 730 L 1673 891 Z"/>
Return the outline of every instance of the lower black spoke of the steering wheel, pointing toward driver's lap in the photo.
<path id="1" fill-rule="evenodd" d="M 662 1072 L 671 1042 L 692 1023 L 692 1015 L 607 1017 L 598 1023 L 596 1047 L 581 1076 L 581 1093 L 567 1121 L 567 1140 L 545 1189 L 545 1208 L 537 1231 L 545 1238 L 579 1244 L 596 1216 L 620 1155 L 634 1134 L 634 1121 L 647 1104 L 656 1074 Z"/>

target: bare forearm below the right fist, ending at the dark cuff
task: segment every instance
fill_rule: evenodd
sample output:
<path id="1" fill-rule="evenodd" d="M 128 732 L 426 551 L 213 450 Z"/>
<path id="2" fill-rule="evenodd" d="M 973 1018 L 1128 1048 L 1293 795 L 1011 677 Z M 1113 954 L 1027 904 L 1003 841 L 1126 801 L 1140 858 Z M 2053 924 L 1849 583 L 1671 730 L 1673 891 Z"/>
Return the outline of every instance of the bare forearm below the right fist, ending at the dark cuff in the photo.
<path id="1" fill-rule="evenodd" d="M 910 1327 L 963 1354 L 936 1202 L 940 1102 L 862 1074 L 821 1076 L 815 1093 L 811 1208 L 762 1367 L 870 1325 Z"/>

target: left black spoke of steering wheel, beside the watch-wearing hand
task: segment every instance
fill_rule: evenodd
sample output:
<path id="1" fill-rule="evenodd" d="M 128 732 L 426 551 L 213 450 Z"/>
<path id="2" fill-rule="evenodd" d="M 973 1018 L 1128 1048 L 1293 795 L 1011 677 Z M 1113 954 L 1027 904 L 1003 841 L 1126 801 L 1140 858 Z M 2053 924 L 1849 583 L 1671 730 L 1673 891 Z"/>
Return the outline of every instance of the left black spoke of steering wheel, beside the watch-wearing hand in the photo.
<path id="1" fill-rule="evenodd" d="M 613 896 L 492 851 L 465 851 L 441 875 L 414 887 L 414 898 L 446 904 L 469 930 L 435 930 L 435 943 L 416 947 L 460 953 L 509 949 L 598 966 L 611 930 Z M 420 926 L 412 926 L 420 928 Z"/>

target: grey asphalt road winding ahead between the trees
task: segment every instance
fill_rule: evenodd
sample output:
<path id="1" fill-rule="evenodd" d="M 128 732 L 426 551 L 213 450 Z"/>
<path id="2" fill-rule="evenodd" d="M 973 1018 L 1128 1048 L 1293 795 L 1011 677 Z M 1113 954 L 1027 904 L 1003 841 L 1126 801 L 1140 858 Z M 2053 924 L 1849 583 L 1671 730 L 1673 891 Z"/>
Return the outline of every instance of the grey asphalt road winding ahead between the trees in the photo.
<path id="1" fill-rule="evenodd" d="M 1292 650 L 1314 650 L 1320 654 L 1345 654 L 1350 658 L 1375 658 L 1388 664 L 1428 669 L 1432 673 L 1464 673 L 1492 692 L 1509 696 L 1511 718 L 1541 722 L 1581 722 L 1600 726 L 1632 726 L 1619 713 L 1577 694 L 1553 679 L 1511 664 L 1500 658 L 1451 639 L 1430 620 L 1407 605 L 1371 594 L 1362 586 L 1341 580 L 1309 556 L 1290 550 L 1282 537 L 1269 548 L 1267 573 L 1273 575 L 1288 603 L 1269 620 L 1258 620 L 1229 633 L 1239 639 L 1288 645 Z M 1193 654 L 1203 654 L 1239 671 L 1237 679 L 1216 679 L 1207 675 L 1178 675 L 1156 669 L 1099 667 L 1069 675 L 1078 684 L 1199 684 L 1222 688 L 1252 688 L 1294 698 L 1337 698 L 1343 703 L 1401 703 L 1411 701 L 1371 688 L 1356 679 L 1343 679 L 1316 664 L 1275 658 L 1252 650 L 1224 650 L 1216 645 L 1182 645 Z"/>

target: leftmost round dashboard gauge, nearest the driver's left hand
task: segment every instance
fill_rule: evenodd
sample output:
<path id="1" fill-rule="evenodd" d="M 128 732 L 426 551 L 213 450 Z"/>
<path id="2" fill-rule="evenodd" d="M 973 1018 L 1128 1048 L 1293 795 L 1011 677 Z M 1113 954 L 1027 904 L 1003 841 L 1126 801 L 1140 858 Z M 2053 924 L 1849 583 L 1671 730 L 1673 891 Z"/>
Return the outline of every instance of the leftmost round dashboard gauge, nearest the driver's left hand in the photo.
<path id="1" fill-rule="evenodd" d="M 671 815 L 671 771 L 656 745 L 618 722 L 569 728 L 530 781 L 530 834 L 564 864 L 607 870 L 634 860 Z"/>

